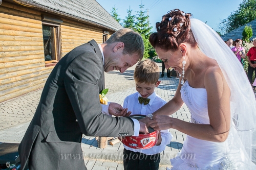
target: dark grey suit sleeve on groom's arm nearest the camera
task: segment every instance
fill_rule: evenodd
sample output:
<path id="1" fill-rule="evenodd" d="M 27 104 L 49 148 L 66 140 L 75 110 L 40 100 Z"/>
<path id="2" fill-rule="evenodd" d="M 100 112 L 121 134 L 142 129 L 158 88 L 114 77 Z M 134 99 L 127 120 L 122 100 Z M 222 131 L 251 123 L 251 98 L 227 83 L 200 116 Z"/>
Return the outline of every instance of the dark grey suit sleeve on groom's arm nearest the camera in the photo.
<path id="1" fill-rule="evenodd" d="M 131 118 L 101 113 L 98 80 L 104 74 L 102 70 L 98 56 L 87 52 L 76 57 L 66 71 L 65 88 L 81 132 L 88 136 L 133 135 Z"/>

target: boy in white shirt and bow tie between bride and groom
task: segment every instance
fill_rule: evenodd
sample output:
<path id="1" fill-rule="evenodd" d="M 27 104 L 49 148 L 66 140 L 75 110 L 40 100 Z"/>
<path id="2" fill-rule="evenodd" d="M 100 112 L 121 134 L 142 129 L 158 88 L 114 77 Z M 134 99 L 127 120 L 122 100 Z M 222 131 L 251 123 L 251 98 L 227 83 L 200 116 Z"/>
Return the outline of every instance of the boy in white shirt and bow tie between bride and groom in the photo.
<path id="1" fill-rule="evenodd" d="M 127 96 L 123 107 L 128 108 L 133 114 L 148 115 L 162 107 L 166 102 L 155 92 L 161 81 L 159 78 L 159 67 L 150 59 L 141 61 L 134 70 L 136 93 Z M 143 99 L 149 99 L 142 103 Z M 141 104 L 142 103 L 142 104 Z M 161 132 L 161 133 L 160 133 Z M 124 145 L 123 166 L 124 170 L 157 170 L 160 163 L 160 152 L 170 143 L 172 135 L 168 130 L 159 132 L 158 142 L 153 148 L 140 150 L 132 149 Z"/>

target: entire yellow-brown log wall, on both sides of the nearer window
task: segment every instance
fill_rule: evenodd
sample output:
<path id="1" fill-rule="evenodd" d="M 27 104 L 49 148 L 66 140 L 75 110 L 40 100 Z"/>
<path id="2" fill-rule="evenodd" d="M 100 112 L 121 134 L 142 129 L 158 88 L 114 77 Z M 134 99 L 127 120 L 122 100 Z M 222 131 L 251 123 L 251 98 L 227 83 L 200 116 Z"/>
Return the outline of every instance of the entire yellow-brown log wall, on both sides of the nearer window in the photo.
<path id="1" fill-rule="evenodd" d="M 15 3 L 0 5 L 0 102 L 44 87 L 54 67 L 45 66 L 41 14 Z M 61 57 L 92 39 L 102 43 L 102 28 L 61 19 Z"/>

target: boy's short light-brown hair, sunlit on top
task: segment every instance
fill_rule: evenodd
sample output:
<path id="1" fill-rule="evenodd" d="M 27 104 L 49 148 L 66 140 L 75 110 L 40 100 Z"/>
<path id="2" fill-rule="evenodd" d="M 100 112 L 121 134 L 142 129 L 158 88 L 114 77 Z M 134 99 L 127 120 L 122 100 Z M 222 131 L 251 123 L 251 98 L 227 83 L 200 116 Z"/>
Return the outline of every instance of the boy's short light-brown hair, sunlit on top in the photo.
<path id="1" fill-rule="evenodd" d="M 143 60 L 134 70 L 134 80 L 138 83 L 156 84 L 159 79 L 159 67 L 155 61 Z"/>

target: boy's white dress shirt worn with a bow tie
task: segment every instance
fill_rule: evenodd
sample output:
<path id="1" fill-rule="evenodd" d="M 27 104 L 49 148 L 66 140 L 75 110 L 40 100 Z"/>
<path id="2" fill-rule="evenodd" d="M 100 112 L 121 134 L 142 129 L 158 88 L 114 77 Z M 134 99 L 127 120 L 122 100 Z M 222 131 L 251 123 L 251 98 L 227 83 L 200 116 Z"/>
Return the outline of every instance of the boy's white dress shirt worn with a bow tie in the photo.
<path id="1" fill-rule="evenodd" d="M 147 105 L 139 103 L 138 101 L 139 96 L 141 96 L 140 93 L 136 92 L 127 96 L 124 99 L 123 108 L 128 108 L 129 111 L 132 111 L 131 115 L 133 114 L 147 115 L 147 114 L 153 113 L 166 103 L 166 101 L 160 98 L 160 96 L 157 95 L 155 91 L 148 97 L 148 99 L 150 99 L 150 103 L 148 103 Z M 173 137 L 173 135 L 168 131 L 168 129 L 161 130 L 160 132 L 161 132 L 161 138 L 162 138 L 160 145 L 157 145 L 155 147 L 152 147 L 150 149 L 145 149 L 145 150 L 133 149 L 130 147 L 126 147 L 125 145 L 124 145 L 124 148 L 126 150 L 130 150 L 133 152 L 140 152 L 146 155 L 158 154 L 164 151 L 166 144 L 169 144 L 170 140 L 172 140 L 172 137 Z"/>

